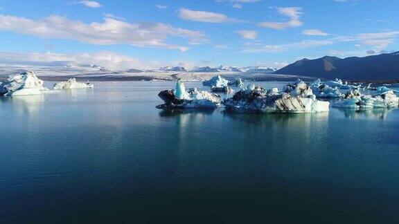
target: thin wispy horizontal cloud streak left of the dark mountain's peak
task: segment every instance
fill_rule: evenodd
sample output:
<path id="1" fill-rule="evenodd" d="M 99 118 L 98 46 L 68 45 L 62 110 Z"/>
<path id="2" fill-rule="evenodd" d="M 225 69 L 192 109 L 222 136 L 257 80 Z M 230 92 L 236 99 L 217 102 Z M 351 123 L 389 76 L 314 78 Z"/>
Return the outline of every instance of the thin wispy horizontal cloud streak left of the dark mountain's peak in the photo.
<path id="1" fill-rule="evenodd" d="M 263 43 L 247 43 L 242 52 L 245 53 L 278 53 L 287 50 L 299 50 L 305 48 L 314 48 L 317 46 L 328 46 L 333 44 L 330 40 L 305 40 L 291 44 L 263 44 Z"/>

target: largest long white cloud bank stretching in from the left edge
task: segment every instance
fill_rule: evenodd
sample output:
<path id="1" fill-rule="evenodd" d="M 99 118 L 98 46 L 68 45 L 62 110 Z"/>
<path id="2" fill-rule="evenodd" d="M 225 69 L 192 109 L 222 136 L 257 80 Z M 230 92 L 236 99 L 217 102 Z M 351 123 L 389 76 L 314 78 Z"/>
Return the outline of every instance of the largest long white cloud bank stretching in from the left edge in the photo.
<path id="1" fill-rule="evenodd" d="M 188 48 L 168 44 L 166 43 L 167 38 L 178 36 L 196 43 L 207 41 L 204 32 L 175 28 L 162 23 L 140 22 L 131 24 L 110 17 L 105 17 L 103 23 L 85 24 L 82 21 L 73 21 L 57 15 L 39 20 L 0 15 L 0 30 L 42 38 L 71 39 L 88 44 L 131 44 L 182 51 L 188 50 Z"/>

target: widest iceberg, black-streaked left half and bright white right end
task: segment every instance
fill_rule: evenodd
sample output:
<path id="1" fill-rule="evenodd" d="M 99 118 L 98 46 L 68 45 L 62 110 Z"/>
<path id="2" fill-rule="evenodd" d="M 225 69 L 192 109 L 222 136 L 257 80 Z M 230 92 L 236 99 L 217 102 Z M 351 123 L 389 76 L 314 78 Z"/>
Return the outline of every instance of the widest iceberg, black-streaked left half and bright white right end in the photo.
<path id="1" fill-rule="evenodd" d="M 295 85 L 285 88 L 285 93 L 276 93 L 276 89 L 266 91 L 259 86 L 247 86 L 233 97 L 223 101 L 227 111 L 249 113 L 314 113 L 329 111 L 329 102 L 316 100 L 304 82 L 298 80 Z"/>

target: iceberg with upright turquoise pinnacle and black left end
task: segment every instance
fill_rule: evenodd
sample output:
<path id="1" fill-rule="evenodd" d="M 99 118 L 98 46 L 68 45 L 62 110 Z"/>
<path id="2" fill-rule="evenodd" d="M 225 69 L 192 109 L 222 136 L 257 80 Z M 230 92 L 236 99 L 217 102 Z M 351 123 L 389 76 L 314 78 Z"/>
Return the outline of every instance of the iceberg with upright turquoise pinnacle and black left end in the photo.
<path id="1" fill-rule="evenodd" d="M 161 91 L 158 96 L 165 102 L 158 109 L 216 109 L 220 106 L 220 95 L 190 88 L 186 91 L 184 82 L 178 80 L 175 90 Z"/>

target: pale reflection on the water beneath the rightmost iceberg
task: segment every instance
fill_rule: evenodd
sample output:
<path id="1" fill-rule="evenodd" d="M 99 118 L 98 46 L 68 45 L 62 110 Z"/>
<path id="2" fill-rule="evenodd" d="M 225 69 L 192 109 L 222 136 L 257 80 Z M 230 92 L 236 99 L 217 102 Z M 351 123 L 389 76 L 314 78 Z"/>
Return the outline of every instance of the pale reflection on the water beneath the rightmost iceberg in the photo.
<path id="1" fill-rule="evenodd" d="M 385 120 L 389 112 L 394 109 L 339 109 L 346 118 L 351 119 L 381 119 Z"/>

